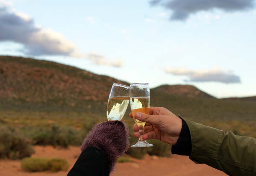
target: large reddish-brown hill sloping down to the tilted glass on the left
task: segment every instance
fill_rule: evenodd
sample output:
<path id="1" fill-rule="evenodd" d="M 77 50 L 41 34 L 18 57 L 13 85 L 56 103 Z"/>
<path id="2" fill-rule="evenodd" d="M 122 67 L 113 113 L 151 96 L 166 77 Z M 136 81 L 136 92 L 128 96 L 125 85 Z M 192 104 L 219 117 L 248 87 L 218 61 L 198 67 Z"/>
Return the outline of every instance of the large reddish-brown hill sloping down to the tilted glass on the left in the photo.
<path id="1" fill-rule="evenodd" d="M 99 110 L 105 108 L 113 82 L 129 85 L 60 63 L 0 56 L 0 103 L 5 109 Z"/>

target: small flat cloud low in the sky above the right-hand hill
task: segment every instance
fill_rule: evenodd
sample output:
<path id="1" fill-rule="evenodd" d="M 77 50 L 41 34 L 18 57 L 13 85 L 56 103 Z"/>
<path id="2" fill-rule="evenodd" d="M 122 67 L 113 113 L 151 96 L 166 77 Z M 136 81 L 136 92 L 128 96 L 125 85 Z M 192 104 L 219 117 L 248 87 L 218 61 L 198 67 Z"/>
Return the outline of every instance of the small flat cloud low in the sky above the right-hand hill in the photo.
<path id="1" fill-rule="evenodd" d="M 219 68 L 201 71 L 193 71 L 186 68 L 169 68 L 165 71 L 176 76 L 187 76 L 188 80 L 184 80 L 186 82 L 241 83 L 240 76 L 234 75 L 232 71 L 224 72 Z"/>

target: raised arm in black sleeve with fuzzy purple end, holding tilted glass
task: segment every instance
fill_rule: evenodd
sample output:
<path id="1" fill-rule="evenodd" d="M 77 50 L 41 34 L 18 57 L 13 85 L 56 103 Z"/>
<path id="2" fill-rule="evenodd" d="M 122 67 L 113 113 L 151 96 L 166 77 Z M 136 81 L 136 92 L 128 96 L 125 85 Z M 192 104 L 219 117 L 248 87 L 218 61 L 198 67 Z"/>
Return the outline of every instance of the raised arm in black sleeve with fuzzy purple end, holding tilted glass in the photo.
<path id="1" fill-rule="evenodd" d="M 109 176 L 129 146 L 128 129 L 121 121 L 105 121 L 89 132 L 68 176 Z"/>

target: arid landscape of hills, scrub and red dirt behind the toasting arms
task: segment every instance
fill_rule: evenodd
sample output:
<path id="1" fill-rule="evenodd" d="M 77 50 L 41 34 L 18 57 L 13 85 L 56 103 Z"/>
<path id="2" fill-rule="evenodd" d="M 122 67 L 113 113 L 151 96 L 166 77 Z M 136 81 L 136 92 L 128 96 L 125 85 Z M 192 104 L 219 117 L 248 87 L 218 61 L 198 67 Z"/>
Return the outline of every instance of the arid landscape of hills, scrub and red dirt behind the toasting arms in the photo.
<path id="1" fill-rule="evenodd" d="M 0 56 L 0 175 L 66 175 L 80 154 L 89 130 L 106 121 L 112 83 L 128 82 L 76 67 L 31 58 Z M 191 85 L 161 85 L 150 89 L 151 106 L 237 135 L 256 137 L 255 97 L 218 99 Z M 130 143 L 134 121 L 128 117 Z M 128 149 L 128 162 L 117 163 L 112 176 L 225 175 L 188 157 L 170 154 L 170 145 Z M 21 145 L 22 144 L 22 145 Z M 20 147 L 22 146 L 22 147 Z M 46 146 L 46 147 L 45 147 Z M 60 157 L 69 164 L 59 172 L 24 172 L 23 158 Z"/>

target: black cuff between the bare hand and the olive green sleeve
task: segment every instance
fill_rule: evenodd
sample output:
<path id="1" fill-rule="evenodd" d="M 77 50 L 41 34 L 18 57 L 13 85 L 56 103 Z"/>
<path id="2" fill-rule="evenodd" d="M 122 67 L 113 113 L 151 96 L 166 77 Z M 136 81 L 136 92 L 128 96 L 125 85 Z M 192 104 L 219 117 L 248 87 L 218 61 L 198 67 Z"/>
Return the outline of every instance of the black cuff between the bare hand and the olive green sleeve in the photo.
<path id="1" fill-rule="evenodd" d="M 191 136 L 188 125 L 182 119 L 180 137 L 175 146 L 172 146 L 172 154 L 190 156 L 192 150 Z"/>

